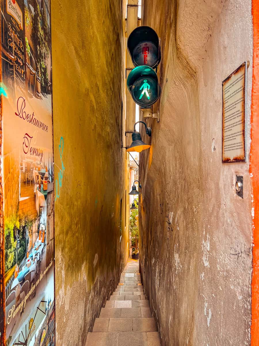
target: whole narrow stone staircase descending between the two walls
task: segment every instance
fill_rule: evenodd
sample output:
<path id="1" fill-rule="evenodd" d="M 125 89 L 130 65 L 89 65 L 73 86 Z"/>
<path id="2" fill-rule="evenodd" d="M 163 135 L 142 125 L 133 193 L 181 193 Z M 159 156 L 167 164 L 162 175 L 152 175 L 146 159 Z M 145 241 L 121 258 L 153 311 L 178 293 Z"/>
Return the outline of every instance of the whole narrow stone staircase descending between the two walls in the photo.
<path id="1" fill-rule="evenodd" d="M 115 292 L 96 318 L 85 346 L 160 346 L 149 302 L 145 299 L 138 261 L 128 260 Z"/>

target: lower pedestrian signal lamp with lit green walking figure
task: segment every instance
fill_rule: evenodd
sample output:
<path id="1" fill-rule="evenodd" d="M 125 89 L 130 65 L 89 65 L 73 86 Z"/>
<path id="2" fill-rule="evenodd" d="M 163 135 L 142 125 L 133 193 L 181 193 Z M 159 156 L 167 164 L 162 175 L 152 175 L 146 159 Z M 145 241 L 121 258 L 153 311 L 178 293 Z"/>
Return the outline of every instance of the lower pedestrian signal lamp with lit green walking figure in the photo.
<path id="1" fill-rule="evenodd" d="M 133 100 L 142 107 L 154 104 L 161 92 L 155 71 L 147 65 L 137 66 L 130 72 L 127 88 Z"/>

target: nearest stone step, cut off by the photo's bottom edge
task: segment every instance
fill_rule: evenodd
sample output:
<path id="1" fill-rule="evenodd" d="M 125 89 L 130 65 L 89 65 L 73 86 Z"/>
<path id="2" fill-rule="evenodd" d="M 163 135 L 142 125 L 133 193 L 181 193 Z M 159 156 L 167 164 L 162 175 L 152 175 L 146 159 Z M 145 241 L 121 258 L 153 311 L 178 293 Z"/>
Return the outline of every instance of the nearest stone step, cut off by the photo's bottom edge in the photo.
<path id="1" fill-rule="evenodd" d="M 158 332 L 93 332 L 88 333 L 85 346 L 160 346 Z"/>

